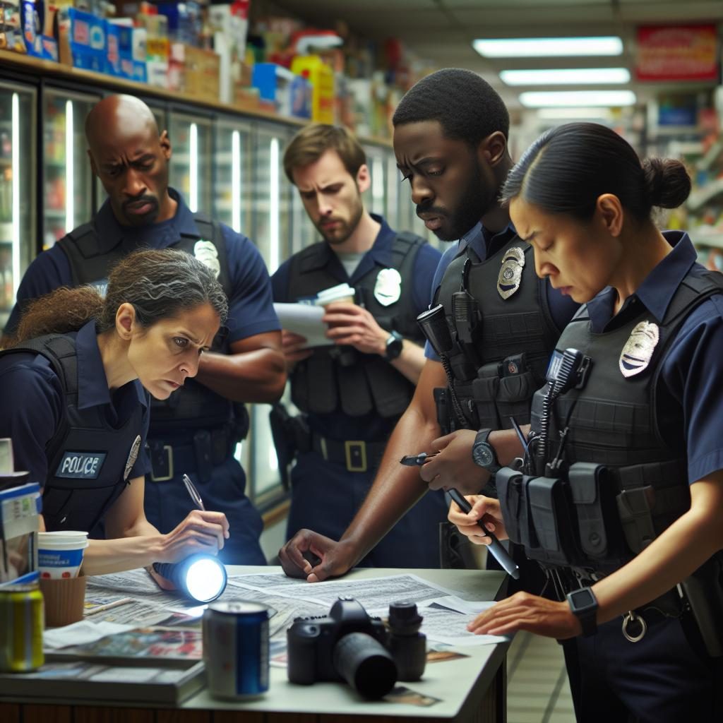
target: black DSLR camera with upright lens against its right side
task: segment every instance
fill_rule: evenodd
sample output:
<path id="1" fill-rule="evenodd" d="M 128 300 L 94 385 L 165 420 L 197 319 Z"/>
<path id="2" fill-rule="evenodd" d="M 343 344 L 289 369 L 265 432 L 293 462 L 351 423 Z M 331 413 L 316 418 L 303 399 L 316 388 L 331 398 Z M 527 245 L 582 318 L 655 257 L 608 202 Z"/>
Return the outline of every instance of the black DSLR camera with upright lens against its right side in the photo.
<path id="1" fill-rule="evenodd" d="M 416 604 L 389 607 L 390 630 L 352 598 L 339 598 L 329 615 L 296 617 L 286 631 L 288 680 L 346 680 L 365 698 L 382 698 L 397 680 L 419 680 L 427 660 Z"/>

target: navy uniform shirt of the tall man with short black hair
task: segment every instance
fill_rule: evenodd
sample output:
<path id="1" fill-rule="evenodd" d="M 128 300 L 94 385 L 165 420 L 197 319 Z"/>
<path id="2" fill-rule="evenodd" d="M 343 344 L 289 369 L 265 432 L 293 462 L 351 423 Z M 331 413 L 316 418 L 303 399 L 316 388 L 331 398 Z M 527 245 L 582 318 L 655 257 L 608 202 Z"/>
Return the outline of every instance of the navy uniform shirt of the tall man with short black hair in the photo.
<path id="1" fill-rule="evenodd" d="M 440 283 L 442 283 L 442 276 L 445 275 L 445 271 L 450 265 L 450 262 L 461 249 L 468 246 L 471 247 L 477 256 L 479 256 L 480 260 L 484 261 L 487 257 L 495 254 L 497 249 L 500 249 L 500 247 L 506 244 L 516 234 L 517 231 L 515 231 L 515 227 L 511 223 L 507 228 L 497 234 L 492 234 L 491 231 L 487 231 L 487 229 L 482 226 L 482 223 L 477 223 L 476 226 L 473 226 L 467 231 L 456 244 L 451 244 L 450 248 L 445 250 L 440 264 L 437 266 L 429 298 L 432 299 L 432 301 L 434 300 L 435 294 L 437 294 L 437 288 L 439 288 Z M 576 301 L 570 299 L 569 296 L 563 296 L 560 294 L 560 291 L 552 288 L 549 283 L 547 283 L 547 304 L 549 305 L 552 320 L 560 331 L 568 325 L 568 322 L 573 318 L 579 306 Z M 484 315 L 484 309 L 482 310 L 482 314 Z M 440 361 L 434 349 L 429 346 L 429 342 L 424 346 L 424 356 L 427 356 L 427 359 Z"/>

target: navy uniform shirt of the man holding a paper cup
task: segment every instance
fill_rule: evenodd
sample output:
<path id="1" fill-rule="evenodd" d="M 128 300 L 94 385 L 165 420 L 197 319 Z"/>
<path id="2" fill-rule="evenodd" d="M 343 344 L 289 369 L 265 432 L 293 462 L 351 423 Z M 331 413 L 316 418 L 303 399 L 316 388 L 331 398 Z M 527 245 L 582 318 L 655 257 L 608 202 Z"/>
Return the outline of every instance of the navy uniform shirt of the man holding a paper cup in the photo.
<path id="1" fill-rule="evenodd" d="M 331 275 L 338 279 L 338 283 L 348 283 L 354 286 L 354 283 L 361 278 L 369 270 L 374 268 L 375 263 L 388 267 L 392 262 L 391 248 L 395 239 L 395 231 L 390 228 L 389 224 L 379 215 L 371 214 L 377 223 L 381 224 L 377 238 L 361 262 L 356 267 L 351 278 L 346 273 L 338 257 L 332 257 L 328 267 Z M 427 309 L 429 304 L 429 287 L 432 284 L 435 268 L 440 262 L 440 254 L 437 249 L 424 244 L 420 247 L 414 260 L 414 270 L 411 278 L 402 279 L 403 284 L 412 284 L 412 299 L 416 313 L 421 314 Z M 271 286 L 273 288 L 274 301 L 280 303 L 293 303 L 297 299 L 290 299 L 288 296 L 288 274 L 291 262 L 287 260 L 278 268 L 276 273 L 271 277 Z M 341 412 L 335 414 L 311 414 L 309 415 L 309 427 L 319 432 L 321 435 L 330 437 L 335 440 L 382 440 L 394 428 L 396 418 L 381 419 L 376 414 L 368 414 L 366 416 L 352 417 Z"/>

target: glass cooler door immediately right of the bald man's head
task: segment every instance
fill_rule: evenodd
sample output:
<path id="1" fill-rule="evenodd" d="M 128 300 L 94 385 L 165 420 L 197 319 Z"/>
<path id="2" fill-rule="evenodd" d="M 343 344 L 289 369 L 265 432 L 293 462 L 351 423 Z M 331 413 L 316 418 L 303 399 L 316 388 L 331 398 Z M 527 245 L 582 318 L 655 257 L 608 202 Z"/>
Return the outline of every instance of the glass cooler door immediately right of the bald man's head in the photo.
<path id="1" fill-rule="evenodd" d="M 212 212 L 212 129 L 208 119 L 171 111 L 171 186 L 194 212 Z"/>

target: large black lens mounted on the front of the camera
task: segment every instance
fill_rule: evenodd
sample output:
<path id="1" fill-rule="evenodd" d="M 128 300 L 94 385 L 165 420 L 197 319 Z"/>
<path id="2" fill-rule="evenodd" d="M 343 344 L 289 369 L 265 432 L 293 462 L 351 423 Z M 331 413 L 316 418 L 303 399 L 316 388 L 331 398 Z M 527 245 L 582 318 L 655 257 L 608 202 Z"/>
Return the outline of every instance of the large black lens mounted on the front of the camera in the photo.
<path id="1" fill-rule="evenodd" d="M 394 688 L 397 668 L 382 644 L 367 633 L 348 633 L 334 646 L 336 672 L 364 698 L 383 698 Z"/>

